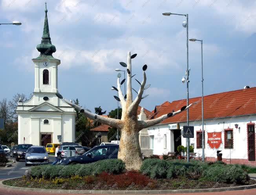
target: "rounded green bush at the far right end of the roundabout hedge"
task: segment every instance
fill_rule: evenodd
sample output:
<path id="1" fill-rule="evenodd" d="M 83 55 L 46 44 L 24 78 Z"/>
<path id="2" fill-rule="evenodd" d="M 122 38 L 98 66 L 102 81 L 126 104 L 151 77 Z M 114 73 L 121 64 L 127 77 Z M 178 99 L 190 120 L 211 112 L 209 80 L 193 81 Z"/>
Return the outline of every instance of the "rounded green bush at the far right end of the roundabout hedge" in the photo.
<path id="1" fill-rule="evenodd" d="M 242 168 L 234 165 L 215 165 L 208 166 L 208 168 L 203 171 L 202 178 L 206 181 L 245 184 L 249 176 Z"/>

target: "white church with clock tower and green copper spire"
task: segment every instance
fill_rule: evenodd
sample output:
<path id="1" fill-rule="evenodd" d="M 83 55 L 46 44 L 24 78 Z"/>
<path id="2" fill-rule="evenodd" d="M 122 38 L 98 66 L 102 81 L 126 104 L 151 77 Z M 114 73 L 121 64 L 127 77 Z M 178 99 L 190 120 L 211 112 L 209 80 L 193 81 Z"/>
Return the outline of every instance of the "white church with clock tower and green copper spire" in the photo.
<path id="1" fill-rule="evenodd" d="M 27 102 L 18 102 L 18 144 L 44 145 L 75 141 L 75 109 L 55 94 L 58 93 L 58 66 L 60 60 L 53 57 L 56 48 L 51 44 L 45 9 L 44 30 L 40 55 L 32 59 L 35 66 L 33 97 Z"/>

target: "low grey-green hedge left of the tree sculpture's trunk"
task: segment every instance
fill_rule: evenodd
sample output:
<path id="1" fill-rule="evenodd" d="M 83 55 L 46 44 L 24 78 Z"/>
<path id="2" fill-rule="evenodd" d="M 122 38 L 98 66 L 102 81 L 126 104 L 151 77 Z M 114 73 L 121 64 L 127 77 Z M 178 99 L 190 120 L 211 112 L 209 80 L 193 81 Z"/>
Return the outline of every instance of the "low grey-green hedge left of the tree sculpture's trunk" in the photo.
<path id="1" fill-rule="evenodd" d="M 55 177 L 69 178 L 74 175 L 81 177 L 99 175 L 102 172 L 120 174 L 124 168 L 124 162 L 119 159 L 106 159 L 95 163 L 76 165 L 41 165 L 31 167 L 31 174 L 27 177 L 53 179 Z"/>

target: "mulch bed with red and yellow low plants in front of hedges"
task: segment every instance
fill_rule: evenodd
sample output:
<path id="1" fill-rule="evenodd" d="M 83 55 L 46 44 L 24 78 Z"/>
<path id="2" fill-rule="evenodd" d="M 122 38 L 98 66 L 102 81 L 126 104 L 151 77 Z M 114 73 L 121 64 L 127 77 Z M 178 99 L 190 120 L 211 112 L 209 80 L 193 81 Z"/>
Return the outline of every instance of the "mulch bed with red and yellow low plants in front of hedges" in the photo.
<path id="1" fill-rule="evenodd" d="M 4 184 L 24 188 L 43 188 L 58 190 L 182 190 L 225 188 L 242 186 L 238 184 L 225 184 L 218 182 L 191 180 L 187 178 L 177 179 L 149 179 L 148 182 L 135 184 L 134 182 L 104 181 L 99 177 L 88 176 L 76 179 L 27 179 L 17 178 L 5 181 Z M 255 180 L 249 180 L 246 185 L 256 184 Z"/>

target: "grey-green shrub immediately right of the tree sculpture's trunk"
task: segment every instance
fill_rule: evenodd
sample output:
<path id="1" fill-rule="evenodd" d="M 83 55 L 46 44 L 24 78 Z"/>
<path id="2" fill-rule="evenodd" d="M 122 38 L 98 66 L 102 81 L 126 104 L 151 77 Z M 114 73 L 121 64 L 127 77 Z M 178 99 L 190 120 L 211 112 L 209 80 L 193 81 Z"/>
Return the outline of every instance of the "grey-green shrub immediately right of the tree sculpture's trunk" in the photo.
<path id="1" fill-rule="evenodd" d="M 161 159 L 146 159 L 141 165 L 141 173 L 150 178 L 166 178 L 168 164 Z"/>

